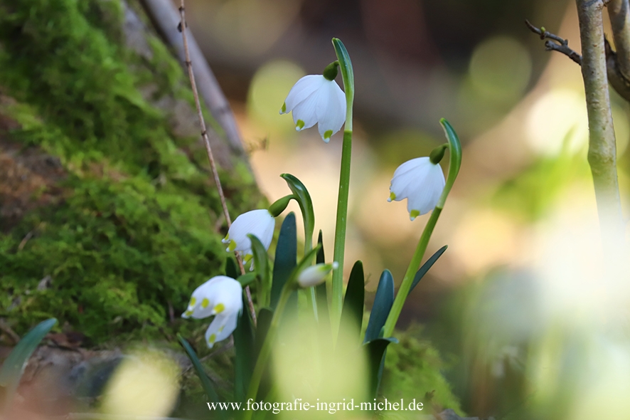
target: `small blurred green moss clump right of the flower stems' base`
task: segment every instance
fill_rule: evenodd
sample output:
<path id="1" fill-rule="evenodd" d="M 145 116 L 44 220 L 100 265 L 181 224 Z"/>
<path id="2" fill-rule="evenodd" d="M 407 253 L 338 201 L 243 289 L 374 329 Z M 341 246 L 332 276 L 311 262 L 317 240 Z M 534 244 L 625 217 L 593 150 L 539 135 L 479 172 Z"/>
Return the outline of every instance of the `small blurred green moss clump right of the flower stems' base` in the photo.
<path id="1" fill-rule="evenodd" d="M 385 372 L 380 394 L 389 401 L 422 401 L 429 411 L 429 400 L 438 406 L 454 409 L 461 414 L 459 401 L 442 376 L 444 362 L 437 350 L 420 337 L 421 327 L 412 326 L 397 334 L 398 344 L 390 345 L 385 355 Z M 431 395 L 431 398 L 427 397 Z"/>

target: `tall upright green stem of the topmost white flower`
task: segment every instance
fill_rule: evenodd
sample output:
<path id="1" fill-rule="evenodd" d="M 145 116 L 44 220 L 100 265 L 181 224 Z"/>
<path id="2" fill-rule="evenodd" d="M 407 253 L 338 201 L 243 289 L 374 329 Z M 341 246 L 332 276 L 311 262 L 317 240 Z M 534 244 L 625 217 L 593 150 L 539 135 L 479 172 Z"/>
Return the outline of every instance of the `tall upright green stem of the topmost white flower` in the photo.
<path id="1" fill-rule="evenodd" d="M 346 127 L 343 131 L 343 145 L 341 148 L 341 174 L 339 176 L 339 196 L 337 201 L 337 218 L 335 226 L 335 244 L 333 261 L 338 268 L 333 271 L 331 297 L 331 329 L 333 340 L 337 336 L 341 322 L 341 308 L 343 305 L 343 258 L 346 254 L 346 224 L 348 220 L 348 192 L 350 189 L 350 160 L 352 154 L 352 106 L 354 102 L 354 73 L 348 51 L 338 38 L 333 38 L 333 46 L 339 61 L 343 90 L 346 92 Z"/>

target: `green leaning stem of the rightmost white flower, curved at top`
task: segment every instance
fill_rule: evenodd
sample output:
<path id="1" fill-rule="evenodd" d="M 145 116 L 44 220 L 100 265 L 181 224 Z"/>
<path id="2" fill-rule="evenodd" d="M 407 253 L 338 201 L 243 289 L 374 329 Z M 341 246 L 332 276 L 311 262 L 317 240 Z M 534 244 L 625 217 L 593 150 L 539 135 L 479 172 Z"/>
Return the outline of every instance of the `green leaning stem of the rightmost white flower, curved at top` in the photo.
<path id="1" fill-rule="evenodd" d="M 407 300 L 407 295 L 409 294 L 415 273 L 417 269 L 420 268 L 422 257 L 425 256 L 425 251 L 427 251 L 427 245 L 429 244 L 433 229 L 435 229 L 435 224 L 437 224 L 439 214 L 442 213 L 444 203 L 447 201 L 447 196 L 449 196 L 455 179 L 457 179 L 457 174 L 459 174 L 459 167 L 461 166 L 461 144 L 459 143 L 459 138 L 447 120 L 442 118 L 439 122 L 442 124 L 444 134 L 449 141 L 449 176 L 444 185 L 444 190 L 439 196 L 437 204 L 429 217 L 429 221 L 427 221 L 427 226 L 425 226 L 425 230 L 422 231 L 420 241 L 418 241 L 418 246 L 411 258 L 409 267 L 407 267 L 405 277 L 402 278 L 402 283 L 400 283 L 400 288 L 398 288 L 398 293 L 390 310 L 390 314 L 388 315 L 388 319 L 385 321 L 385 325 L 383 325 L 383 337 L 391 337 L 394 332 L 396 322 L 402 310 L 402 305 L 405 305 L 405 300 Z"/>

